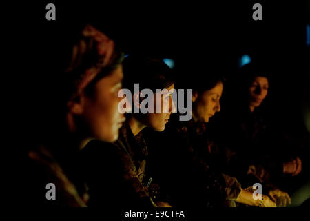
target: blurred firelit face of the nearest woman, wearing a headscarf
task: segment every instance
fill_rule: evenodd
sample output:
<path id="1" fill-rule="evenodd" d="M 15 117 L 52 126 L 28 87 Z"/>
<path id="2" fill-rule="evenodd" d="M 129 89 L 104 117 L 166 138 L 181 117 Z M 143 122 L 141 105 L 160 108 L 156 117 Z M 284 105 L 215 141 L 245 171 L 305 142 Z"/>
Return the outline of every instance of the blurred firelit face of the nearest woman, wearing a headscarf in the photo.
<path id="1" fill-rule="evenodd" d="M 125 117 L 118 112 L 118 97 L 123 79 L 123 67 L 120 65 L 110 75 L 103 77 L 94 86 L 94 95 L 83 95 L 82 117 L 90 130 L 90 135 L 99 140 L 114 142 L 118 138 Z"/>

